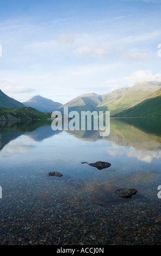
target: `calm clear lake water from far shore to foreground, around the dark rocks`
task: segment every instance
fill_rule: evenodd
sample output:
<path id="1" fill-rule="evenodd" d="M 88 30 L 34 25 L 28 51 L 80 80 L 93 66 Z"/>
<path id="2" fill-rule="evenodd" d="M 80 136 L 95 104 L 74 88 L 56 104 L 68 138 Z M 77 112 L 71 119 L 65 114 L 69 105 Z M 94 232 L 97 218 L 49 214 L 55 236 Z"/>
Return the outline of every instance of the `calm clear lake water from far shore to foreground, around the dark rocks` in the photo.
<path id="1" fill-rule="evenodd" d="M 1 123 L 0 244 L 160 244 L 160 124 L 110 119 L 110 135 L 100 137 L 53 131 L 51 121 Z M 96 161 L 112 165 L 81 163 Z M 121 187 L 138 193 L 115 202 Z"/>

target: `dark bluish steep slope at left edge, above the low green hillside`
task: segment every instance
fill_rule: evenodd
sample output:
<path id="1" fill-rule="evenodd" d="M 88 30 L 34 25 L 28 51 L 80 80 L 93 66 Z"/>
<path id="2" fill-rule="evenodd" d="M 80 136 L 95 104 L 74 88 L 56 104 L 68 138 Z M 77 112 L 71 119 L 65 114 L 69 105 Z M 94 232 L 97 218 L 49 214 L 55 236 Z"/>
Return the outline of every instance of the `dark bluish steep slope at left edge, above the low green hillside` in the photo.
<path id="1" fill-rule="evenodd" d="M 24 105 L 21 102 L 7 96 L 2 92 L 2 90 L 0 90 L 0 107 L 20 108 L 24 107 Z"/>

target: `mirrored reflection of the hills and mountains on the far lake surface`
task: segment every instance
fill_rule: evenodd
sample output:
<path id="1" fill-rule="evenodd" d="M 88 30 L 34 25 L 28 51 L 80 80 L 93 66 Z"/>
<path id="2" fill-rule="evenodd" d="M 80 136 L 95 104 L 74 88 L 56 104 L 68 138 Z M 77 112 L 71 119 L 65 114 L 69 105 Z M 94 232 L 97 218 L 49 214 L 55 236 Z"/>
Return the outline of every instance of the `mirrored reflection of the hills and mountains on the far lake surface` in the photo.
<path id="1" fill-rule="evenodd" d="M 83 141 L 110 141 L 115 146 L 133 147 L 138 151 L 129 151 L 129 156 L 144 158 L 144 151 L 156 157 L 161 155 L 161 120 L 158 118 L 126 118 L 110 119 L 110 134 L 100 137 L 100 131 L 53 131 L 51 120 L 27 120 L 16 122 L 0 122 L 0 150 L 21 135 L 29 136 L 35 141 L 42 141 L 61 132 L 68 132 Z M 155 152 L 157 151 L 157 153 Z M 152 153 L 153 152 L 153 153 Z M 121 154 L 114 148 L 109 154 Z"/>

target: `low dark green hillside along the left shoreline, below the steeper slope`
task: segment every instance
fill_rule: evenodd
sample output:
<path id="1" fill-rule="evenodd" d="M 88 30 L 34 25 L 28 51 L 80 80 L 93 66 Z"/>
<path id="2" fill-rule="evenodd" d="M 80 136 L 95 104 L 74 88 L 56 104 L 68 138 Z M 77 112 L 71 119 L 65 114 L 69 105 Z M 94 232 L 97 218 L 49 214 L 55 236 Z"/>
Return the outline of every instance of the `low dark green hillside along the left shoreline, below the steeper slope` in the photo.
<path id="1" fill-rule="evenodd" d="M 32 107 L 0 108 L 0 120 L 47 119 L 51 113 L 42 113 Z"/>

